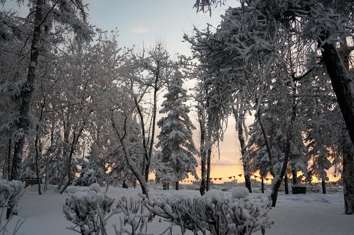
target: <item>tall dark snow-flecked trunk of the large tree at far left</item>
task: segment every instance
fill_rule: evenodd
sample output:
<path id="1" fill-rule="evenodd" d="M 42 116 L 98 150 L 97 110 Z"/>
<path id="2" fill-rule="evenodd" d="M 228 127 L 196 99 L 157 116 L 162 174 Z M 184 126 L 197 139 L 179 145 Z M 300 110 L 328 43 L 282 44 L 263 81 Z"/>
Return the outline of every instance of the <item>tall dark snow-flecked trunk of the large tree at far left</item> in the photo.
<path id="1" fill-rule="evenodd" d="M 36 78 L 36 68 L 38 63 L 39 48 L 38 44 L 41 37 L 41 22 L 42 22 L 42 8 L 40 7 L 43 4 L 44 0 L 37 0 L 36 2 L 36 13 L 34 19 L 34 30 L 33 38 L 31 42 L 31 54 L 30 61 L 27 72 L 27 81 L 22 89 L 22 103 L 20 108 L 20 116 L 18 119 L 17 129 L 19 132 L 25 134 L 26 129 L 29 124 L 29 112 L 31 109 L 32 102 L 32 93 L 35 84 Z M 23 146 L 24 146 L 25 135 L 15 141 L 15 147 L 13 152 L 12 159 L 12 169 L 11 169 L 11 180 L 21 180 L 21 160 L 23 155 Z"/>

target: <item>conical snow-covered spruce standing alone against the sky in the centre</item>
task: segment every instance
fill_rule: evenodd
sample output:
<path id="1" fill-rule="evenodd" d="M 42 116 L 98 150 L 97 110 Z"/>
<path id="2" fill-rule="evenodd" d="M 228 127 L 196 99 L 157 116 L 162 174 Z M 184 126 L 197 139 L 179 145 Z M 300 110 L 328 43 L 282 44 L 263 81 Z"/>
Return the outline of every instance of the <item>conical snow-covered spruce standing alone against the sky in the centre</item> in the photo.
<path id="1" fill-rule="evenodd" d="M 164 95 L 160 113 L 167 113 L 158 122 L 161 128 L 157 136 L 159 142 L 156 147 L 161 147 L 161 161 L 171 169 L 171 179 L 178 181 L 188 178 L 188 173 L 198 177 L 195 171 L 197 161 L 194 157 L 198 153 L 192 139 L 194 125 L 188 117 L 189 108 L 185 104 L 188 99 L 187 90 L 182 88 L 182 74 L 175 72 L 169 83 L 168 92 Z M 163 178 L 164 172 L 159 172 Z"/>

